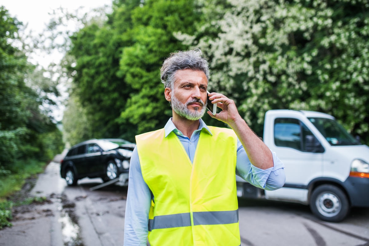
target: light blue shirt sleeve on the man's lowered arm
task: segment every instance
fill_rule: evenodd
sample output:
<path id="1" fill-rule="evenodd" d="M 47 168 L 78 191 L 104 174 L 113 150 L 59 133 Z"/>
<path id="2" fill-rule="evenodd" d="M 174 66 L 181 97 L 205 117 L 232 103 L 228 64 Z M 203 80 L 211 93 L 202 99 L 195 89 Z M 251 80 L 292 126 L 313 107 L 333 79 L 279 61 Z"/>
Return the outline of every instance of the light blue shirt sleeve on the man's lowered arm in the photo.
<path id="1" fill-rule="evenodd" d="M 133 150 L 128 176 L 124 216 L 124 246 L 146 246 L 151 191 L 142 177 L 137 148 Z"/>

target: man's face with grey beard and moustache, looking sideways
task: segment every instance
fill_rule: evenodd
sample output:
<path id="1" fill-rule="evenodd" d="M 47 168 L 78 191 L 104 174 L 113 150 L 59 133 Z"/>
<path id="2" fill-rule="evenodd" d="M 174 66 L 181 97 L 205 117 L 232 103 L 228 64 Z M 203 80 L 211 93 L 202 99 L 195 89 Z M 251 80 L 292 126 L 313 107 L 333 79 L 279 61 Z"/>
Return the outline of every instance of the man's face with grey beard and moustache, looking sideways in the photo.
<path id="1" fill-rule="evenodd" d="M 202 71 L 178 70 L 171 93 L 173 110 L 186 119 L 200 119 L 206 111 L 207 83 Z"/>

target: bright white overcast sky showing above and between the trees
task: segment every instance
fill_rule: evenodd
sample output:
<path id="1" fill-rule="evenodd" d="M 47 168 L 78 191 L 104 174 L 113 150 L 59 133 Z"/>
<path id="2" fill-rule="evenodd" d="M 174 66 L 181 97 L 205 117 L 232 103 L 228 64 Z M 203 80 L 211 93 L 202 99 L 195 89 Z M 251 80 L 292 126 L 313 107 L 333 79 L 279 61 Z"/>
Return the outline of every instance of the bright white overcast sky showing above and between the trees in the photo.
<path id="1" fill-rule="evenodd" d="M 24 25 L 28 24 L 25 33 L 32 31 L 33 35 L 37 35 L 45 29 L 46 24 L 49 22 L 49 13 L 52 13 L 53 10 L 59 7 L 66 9 L 69 13 L 73 13 L 79 7 L 83 7 L 83 11 L 88 12 L 104 5 L 111 6 L 111 2 L 112 0 L 1 0 L 0 5 L 3 5 L 9 11 L 11 17 L 16 17 Z M 76 27 L 71 28 L 76 29 Z M 62 57 L 63 54 L 59 52 L 54 52 L 51 55 L 35 53 L 31 55 L 30 62 L 37 62 L 41 66 L 47 67 L 51 62 L 58 64 Z M 52 116 L 56 121 L 61 121 L 65 109 L 63 101 L 68 98 L 68 93 L 66 92 L 66 85 L 60 84 L 58 89 L 62 96 L 53 98 L 58 101 L 58 105 L 51 109 L 53 111 Z"/>

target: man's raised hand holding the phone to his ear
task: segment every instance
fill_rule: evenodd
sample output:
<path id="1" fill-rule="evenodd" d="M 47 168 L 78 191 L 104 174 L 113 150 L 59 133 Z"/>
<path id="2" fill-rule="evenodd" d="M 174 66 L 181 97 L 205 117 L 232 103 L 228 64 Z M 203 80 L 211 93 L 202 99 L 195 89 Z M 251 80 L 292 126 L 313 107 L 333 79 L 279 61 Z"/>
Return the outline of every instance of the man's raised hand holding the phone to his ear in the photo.
<path id="1" fill-rule="evenodd" d="M 231 127 L 236 121 L 242 120 L 242 117 L 238 113 L 236 104 L 232 99 L 215 92 L 209 93 L 209 99 L 211 100 L 211 103 L 216 103 L 217 107 L 222 109 L 221 112 L 215 115 L 208 111 L 207 113 L 210 117 L 223 121 Z"/>

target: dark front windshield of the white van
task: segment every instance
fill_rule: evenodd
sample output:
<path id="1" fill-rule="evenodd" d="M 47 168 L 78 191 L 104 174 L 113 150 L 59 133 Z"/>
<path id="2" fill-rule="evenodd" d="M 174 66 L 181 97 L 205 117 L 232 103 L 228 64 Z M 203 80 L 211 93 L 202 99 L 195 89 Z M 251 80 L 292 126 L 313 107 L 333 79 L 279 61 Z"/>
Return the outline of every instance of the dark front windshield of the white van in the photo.
<path id="1" fill-rule="evenodd" d="M 361 145 L 345 128 L 334 119 L 308 118 L 332 146 Z"/>

